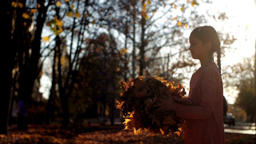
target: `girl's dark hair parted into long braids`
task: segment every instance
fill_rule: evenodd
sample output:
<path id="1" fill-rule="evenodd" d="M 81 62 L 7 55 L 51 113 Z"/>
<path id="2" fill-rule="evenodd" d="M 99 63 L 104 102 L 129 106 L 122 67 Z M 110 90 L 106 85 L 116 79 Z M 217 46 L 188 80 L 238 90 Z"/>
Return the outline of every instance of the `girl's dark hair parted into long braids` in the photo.
<path id="1" fill-rule="evenodd" d="M 217 65 L 221 74 L 221 64 L 220 64 L 220 39 L 216 30 L 212 26 L 201 26 L 195 28 L 191 34 L 196 36 L 202 43 L 211 42 L 212 44 L 212 60 L 214 61 L 213 53 L 217 53 Z M 228 112 L 228 103 L 226 101 L 225 96 L 223 96 L 223 119 L 227 117 Z"/>

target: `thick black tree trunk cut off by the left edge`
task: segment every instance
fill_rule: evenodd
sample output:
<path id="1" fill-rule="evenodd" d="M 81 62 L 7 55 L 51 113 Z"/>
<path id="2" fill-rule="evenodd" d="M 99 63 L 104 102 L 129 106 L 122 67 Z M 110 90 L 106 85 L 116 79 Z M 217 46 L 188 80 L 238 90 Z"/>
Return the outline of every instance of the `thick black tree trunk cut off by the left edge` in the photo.
<path id="1" fill-rule="evenodd" d="M 12 29 L 12 14 L 10 0 L 1 1 L 0 12 L 0 42 L 2 44 L 2 97 L 0 100 L 0 110 L 2 116 L 0 118 L 0 134 L 7 134 L 8 130 L 8 110 L 12 87 L 12 69 L 14 68 L 15 50 L 11 46 L 11 29 Z"/>

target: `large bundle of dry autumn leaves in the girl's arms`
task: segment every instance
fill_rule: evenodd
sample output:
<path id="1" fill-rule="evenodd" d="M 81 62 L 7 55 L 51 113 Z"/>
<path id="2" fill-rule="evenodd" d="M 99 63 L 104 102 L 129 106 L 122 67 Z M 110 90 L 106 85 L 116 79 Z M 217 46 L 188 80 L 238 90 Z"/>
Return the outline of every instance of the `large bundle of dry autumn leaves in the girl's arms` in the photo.
<path id="1" fill-rule="evenodd" d="M 121 84 L 123 92 L 116 101 L 116 108 L 123 112 L 124 130 L 132 130 L 134 134 L 149 131 L 153 135 L 180 136 L 180 132 L 186 127 L 185 119 L 174 116 L 174 111 L 165 112 L 162 116 L 153 112 L 153 105 L 159 103 L 156 98 L 167 99 L 171 95 L 176 102 L 192 103 L 186 98 L 186 91 L 180 83 L 167 81 L 162 77 L 138 76 L 128 82 L 121 81 Z"/>

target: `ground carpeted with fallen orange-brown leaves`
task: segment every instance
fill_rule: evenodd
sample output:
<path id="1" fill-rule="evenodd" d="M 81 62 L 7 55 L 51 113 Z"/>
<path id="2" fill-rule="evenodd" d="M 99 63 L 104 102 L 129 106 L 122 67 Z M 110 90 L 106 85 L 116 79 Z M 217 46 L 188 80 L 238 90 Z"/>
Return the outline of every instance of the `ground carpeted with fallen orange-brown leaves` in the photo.
<path id="1" fill-rule="evenodd" d="M 254 134 L 226 134 L 226 144 L 254 144 Z M 161 136 L 148 132 L 134 135 L 121 125 L 79 125 L 62 128 L 60 125 L 29 125 L 28 130 L 9 128 L 0 135 L 0 144 L 184 144 L 183 137 Z"/>

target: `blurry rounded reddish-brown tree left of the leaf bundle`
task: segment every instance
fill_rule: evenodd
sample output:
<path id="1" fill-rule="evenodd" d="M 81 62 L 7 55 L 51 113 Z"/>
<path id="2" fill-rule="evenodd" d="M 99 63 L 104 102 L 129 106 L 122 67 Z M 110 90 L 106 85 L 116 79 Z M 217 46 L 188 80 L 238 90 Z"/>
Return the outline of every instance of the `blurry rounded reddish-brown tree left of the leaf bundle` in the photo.
<path id="1" fill-rule="evenodd" d="M 115 101 L 120 94 L 120 62 L 111 35 L 102 33 L 93 40 L 75 84 L 77 91 L 73 92 L 69 103 L 74 119 L 98 118 L 99 122 L 104 122 L 99 118 L 107 118 L 107 112 L 114 124 Z"/>

